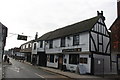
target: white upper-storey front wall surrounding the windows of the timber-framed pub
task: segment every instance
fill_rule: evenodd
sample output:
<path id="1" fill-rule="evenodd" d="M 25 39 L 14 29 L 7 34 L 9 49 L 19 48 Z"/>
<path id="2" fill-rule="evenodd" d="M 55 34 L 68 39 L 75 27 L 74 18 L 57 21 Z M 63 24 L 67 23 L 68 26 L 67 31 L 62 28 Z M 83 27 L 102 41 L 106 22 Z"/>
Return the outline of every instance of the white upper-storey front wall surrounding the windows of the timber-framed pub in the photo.
<path id="1" fill-rule="evenodd" d="M 77 46 L 73 46 L 73 36 L 69 36 L 70 39 L 66 37 L 65 47 L 60 47 L 61 39 L 53 40 L 53 48 L 49 49 L 49 44 L 46 45 L 46 53 L 62 53 L 63 49 L 73 49 L 73 48 L 82 48 L 82 51 L 89 51 L 89 33 L 84 32 L 80 33 L 79 40 L 80 43 Z"/>

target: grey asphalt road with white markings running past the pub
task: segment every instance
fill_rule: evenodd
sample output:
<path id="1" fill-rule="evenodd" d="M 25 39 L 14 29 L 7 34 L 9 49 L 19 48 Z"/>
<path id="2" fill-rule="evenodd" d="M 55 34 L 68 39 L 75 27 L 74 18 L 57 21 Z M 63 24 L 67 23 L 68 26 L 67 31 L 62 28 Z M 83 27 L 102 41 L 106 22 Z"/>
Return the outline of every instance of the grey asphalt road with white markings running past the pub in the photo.
<path id="1" fill-rule="evenodd" d="M 36 66 L 10 59 L 12 65 L 4 65 L 5 78 L 51 78 L 69 80 L 67 77 L 39 69 Z"/>

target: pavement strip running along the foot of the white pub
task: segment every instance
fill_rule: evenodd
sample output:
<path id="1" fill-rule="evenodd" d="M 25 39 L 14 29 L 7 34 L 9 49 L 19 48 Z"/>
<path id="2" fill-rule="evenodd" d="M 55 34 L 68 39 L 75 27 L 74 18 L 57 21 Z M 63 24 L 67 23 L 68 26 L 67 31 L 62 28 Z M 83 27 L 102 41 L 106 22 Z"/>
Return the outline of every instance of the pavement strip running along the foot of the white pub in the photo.
<path id="1" fill-rule="evenodd" d="M 24 62 L 24 63 L 27 63 L 29 65 L 32 65 L 31 63 L 29 62 Z M 79 73 L 75 73 L 75 72 L 70 72 L 70 71 L 62 71 L 60 69 L 55 69 L 55 68 L 49 68 L 49 67 L 41 67 L 41 66 L 35 66 L 39 69 L 43 69 L 43 70 L 46 70 L 46 71 L 49 71 L 49 72 L 52 72 L 52 73 L 56 73 L 56 74 L 59 74 L 59 75 L 62 75 L 62 76 L 65 76 L 65 77 L 68 77 L 68 78 L 71 78 L 71 79 L 77 79 L 77 78 L 81 78 L 81 79 L 101 79 L 101 78 L 119 78 L 120 79 L 120 75 L 102 75 L 102 76 L 96 76 L 96 75 L 82 75 L 82 74 L 79 74 Z"/>

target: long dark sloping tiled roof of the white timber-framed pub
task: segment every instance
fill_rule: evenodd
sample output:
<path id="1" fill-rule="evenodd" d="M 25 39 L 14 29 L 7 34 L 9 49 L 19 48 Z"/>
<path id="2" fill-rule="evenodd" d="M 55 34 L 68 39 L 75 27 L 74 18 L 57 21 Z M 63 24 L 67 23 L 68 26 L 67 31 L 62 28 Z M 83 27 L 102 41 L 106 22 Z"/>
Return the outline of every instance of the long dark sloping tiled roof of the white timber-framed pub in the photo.
<path id="1" fill-rule="evenodd" d="M 56 38 L 60 38 L 68 35 L 89 31 L 91 30 L 91 28 L 94 26 L 94 24 L 98 21 L 100 17 L 101 16 L 96 16 L 72 25 L 68 25 L 63 28 L 56 29 L 54 31 L 48 32 L 43 36 L 39 37 L 38 40 L 56 39 Z"/>

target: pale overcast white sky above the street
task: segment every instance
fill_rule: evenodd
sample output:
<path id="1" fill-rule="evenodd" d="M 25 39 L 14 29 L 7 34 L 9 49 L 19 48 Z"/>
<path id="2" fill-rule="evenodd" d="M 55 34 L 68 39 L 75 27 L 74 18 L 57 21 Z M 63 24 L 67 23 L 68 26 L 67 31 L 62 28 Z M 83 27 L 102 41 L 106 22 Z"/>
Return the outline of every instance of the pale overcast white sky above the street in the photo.
<path id="1" fill-rule="evenodd" d="M 106 26 L 117 17 L 117 0 L 0 0 L 0 22 L 8 28 L 5 50 L 55 29 L 97 16 L 103 11 Z M 28 36 L 27 41 L 17 35 Z"/>

